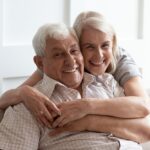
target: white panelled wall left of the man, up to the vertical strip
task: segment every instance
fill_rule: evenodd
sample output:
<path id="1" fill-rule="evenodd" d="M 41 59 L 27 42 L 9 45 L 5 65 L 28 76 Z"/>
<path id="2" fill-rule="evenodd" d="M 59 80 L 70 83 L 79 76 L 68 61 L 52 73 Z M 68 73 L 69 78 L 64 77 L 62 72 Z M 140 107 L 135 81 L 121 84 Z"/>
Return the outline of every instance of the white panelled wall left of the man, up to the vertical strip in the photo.
<path id="1" fill-rule="evenodd" d="M 35 70 L 32 37 L 47 22 L 68 24 L 69 1 L 0 0 L 0 93 Z"/>

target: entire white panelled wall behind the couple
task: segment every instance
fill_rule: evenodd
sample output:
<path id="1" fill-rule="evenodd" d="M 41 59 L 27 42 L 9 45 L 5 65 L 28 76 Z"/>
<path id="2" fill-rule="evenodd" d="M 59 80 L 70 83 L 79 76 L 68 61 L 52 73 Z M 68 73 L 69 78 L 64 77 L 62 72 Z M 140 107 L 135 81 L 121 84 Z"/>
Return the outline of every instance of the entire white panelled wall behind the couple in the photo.
<path id="1" fill-rule="evenodd" d="M 0 93 L 16 87 L 35 70 L 31 41 L 40 25 L 46 22 L 72 25 L 85 10 L 98 11 L 112 22 L 120 46 L 143 68 L 145 86 L 150 88 L 149 0 L 0 0 Z"/>

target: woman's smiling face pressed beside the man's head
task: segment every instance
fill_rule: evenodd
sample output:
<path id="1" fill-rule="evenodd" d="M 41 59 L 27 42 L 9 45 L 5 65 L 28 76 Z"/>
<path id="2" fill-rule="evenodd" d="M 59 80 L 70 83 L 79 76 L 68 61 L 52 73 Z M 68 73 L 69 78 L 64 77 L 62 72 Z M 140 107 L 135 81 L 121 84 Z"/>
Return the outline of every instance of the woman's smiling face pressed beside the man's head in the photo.
<path id="1" fill-rule="evenodd" d="M 83 30 L 80 46 L 84 57 L 85 70 L 93 75 L 101 75 L 112 59 L 112 36 L 92 29 Z"/>

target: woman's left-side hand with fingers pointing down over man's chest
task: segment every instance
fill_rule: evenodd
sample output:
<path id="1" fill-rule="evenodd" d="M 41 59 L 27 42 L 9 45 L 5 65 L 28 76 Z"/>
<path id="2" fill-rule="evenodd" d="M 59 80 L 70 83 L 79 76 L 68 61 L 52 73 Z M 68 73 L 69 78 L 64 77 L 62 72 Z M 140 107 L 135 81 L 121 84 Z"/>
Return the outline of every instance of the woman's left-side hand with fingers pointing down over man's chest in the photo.
<path id="1" fill-rule="evenodd" d="M 51 127 L 53 118 L 59 116 L 60 110 L 50 99 L 30 86 L 19 87 L 19 95 L 25 106 L 43 125 Z"/>

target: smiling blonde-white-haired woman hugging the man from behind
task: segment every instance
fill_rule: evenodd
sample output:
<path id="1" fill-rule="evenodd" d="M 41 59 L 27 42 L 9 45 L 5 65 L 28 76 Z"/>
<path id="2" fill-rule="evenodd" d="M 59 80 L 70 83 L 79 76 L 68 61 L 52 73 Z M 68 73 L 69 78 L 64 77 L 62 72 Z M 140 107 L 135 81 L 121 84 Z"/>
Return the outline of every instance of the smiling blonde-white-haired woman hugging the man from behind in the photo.
<path id="1" fill-rule="evenodd" d="M 117 47 L 116 34 L 112 26 L 97 12 L 83 12 L 77 17 L 74 29 L 80 41 L 85 71 L 98 76 L 98 78 L 100 77 L 98 82 L 103 84 L 106 84 L 105 80 L 111 81 L 108 84 L 108 92 L 103 93 L 101 99 L 96 98 L 92 101 L 90 98 L 84 99 L 90 106 L 87 108 L 80 102 L 78 102 L 78 105 L 75 105 L 74 102 L 73 104 L 68 102 L 56 106 L 42 93 L 30 87 L 42 78 L 42 74 L 36 71 L 19 88 L 4 93 L 1 97 L 0 107 L 4 109 L 10 104 L 24 101 L 38 120 L 45 125 L 48 125 L 49 120 L 53 119 L 52 116 L 61 113 L 61 116 L 54 121 L 53 127 L 64 126 L 70 121 L 80 119 L 87 114 L 119 118 L 147 116 L 149 114 L 149 102 L 141 85 L 140 72 L 132 58 L 123 49 Z M 122 92 L 122 90 L 115 91 L 113 89 L 113 87 L 116 87 L 116 83 L 113 82 L 112 76 L 103 75 L 105 72 L 114 75 L 123 87 L 126 96 L 117 93 Z M 110 91 L 110 89 L 113 91 Z M 10 96 L 11 99 L 13 97 L 11 102 Z M 51 114 L 47 106 L 55 113 Z"/>

